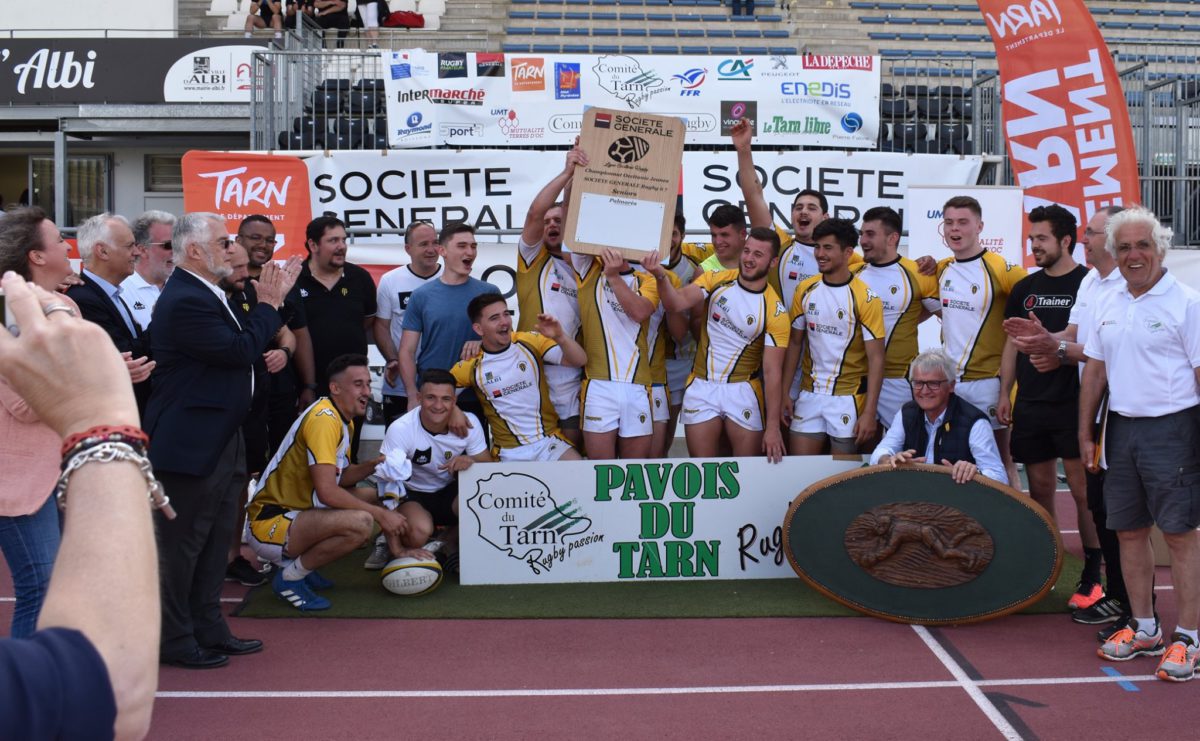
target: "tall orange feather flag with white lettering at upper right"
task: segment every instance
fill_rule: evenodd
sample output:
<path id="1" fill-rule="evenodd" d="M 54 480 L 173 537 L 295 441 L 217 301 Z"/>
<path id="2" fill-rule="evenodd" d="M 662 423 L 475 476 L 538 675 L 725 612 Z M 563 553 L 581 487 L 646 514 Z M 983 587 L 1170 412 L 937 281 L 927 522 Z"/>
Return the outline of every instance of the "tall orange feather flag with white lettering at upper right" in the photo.
<path id="1" fill-rule="evenodd" d="M 1004 140 L 1025 211 L 1056 203 L 1082 229 L 1105 206 L 1139 203 L 1129 110 L 1084 1 L 979 0 L 979 10 L 996 46 Z"/>

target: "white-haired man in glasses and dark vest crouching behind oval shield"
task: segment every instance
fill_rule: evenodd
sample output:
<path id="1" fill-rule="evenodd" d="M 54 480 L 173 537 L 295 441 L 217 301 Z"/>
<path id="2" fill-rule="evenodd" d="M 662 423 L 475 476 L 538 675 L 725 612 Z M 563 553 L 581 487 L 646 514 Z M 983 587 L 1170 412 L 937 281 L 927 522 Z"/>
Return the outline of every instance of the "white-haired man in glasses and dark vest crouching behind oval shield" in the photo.
<path id="1" fill-rule="evenodd" d="M 928 350 L 912 361 L 908 378 L 913 400 L 893 417 L 871 464 L 942 464 L 959 483 L 983 474 L 1007 484 L 988 415 L 954 393 L 954 361 L 942 350 Z"/>

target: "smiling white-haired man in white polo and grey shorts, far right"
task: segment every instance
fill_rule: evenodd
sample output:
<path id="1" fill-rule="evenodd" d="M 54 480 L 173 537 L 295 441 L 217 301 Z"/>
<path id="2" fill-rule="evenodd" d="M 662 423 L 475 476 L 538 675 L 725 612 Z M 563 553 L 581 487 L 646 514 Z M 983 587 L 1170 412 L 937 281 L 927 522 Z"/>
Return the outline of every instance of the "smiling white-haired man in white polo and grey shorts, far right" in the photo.
<path id="1" fill-rule="evenodd" d="M 1079 404 L 1080 457 L 1098 469 L 1092 421 L 1105 386 L 1108 525 L 1121 540 L 1121 567 L 1133 608 L 1129 625 L 1098 649 L 1100 658 L 1159 656 L 1157 675 L 1195 673 L 1200 620 L 1200 294 L 1163 269 L 1171 230 L 1133 207 L 1109 219 L 1108 251 L 1126 284 L 1102 296 L 1085 343 Z M 1178 623 L 1170 646 L 1151 602 L 1150 528 L 1171 550 Z"/>

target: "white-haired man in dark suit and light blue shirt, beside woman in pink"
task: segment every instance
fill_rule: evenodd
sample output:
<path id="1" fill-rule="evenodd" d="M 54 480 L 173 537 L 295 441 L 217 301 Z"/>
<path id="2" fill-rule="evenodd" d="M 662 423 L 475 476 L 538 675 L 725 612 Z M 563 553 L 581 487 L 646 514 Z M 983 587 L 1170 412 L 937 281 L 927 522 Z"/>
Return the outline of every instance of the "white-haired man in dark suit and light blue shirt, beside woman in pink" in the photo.
<path id="1" fill-rule="evenodd" d="M 83 258 L 80 283 L 67 289 L 67 296 L 79 306 L 88 321 L 104 327 L 113 344 L 125 356 L 133 381 L 138 414 L 145 415 L 150 399 L 150 335 L 139 326 L 121 296 L 121 282 L 133 275 L 133 266 L 145 248 L 133 239 L 124 216 L 101 213 L 85 221 L 77 234 Z"/>

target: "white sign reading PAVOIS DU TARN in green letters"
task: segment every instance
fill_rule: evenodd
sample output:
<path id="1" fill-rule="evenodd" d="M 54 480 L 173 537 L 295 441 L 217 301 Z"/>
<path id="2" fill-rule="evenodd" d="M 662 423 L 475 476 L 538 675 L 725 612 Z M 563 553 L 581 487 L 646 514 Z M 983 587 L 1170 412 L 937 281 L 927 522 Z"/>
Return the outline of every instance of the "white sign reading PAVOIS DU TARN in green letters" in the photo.
<path id="1" fill-rule="evenodd" d="M 828 456 L 478 463 L 458 476 L 463 584 L 794 578 L 782 524 Z"/>

